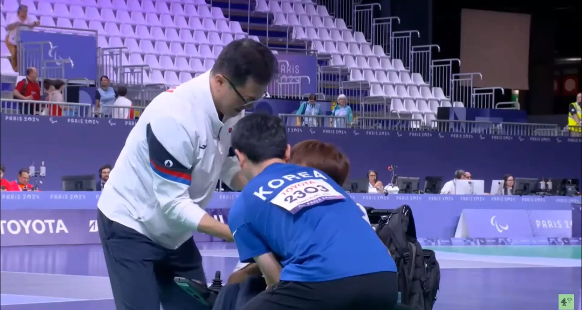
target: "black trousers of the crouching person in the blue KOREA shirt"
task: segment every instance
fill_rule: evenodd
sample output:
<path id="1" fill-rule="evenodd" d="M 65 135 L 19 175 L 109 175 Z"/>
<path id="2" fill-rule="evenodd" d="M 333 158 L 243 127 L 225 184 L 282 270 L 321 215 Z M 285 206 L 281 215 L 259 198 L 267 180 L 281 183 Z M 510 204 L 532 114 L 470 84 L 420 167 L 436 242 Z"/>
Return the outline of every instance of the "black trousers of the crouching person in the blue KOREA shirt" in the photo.
<path id="1" fill-rule="evenodd" d="M 396 272 L 377 272 L 327 282 L 282 281 L 242 310 L 391 310 L 397 298 Z"/>

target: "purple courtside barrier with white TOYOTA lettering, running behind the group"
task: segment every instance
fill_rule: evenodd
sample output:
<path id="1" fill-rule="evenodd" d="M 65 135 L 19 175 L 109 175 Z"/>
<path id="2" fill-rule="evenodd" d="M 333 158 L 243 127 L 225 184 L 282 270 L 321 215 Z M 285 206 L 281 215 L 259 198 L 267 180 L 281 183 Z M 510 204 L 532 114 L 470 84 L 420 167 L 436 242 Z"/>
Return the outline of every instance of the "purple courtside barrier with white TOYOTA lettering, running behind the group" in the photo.
<path id="1" fill-rule="evenodd" d="M 100 194 L 90 191 L 2 192 L 2 246 L 98 243 L 95 219 Z M 238 196 L 239 193 L 215 193 L 207 212 L 228 223 L 229 209 Z M 562 215 L 555 212 L 571 212 L 572 204 L 580 204 L 580 197 L 498 199 L 500 197 L 429 194 L 351 194 L 351 197 L 364 206 L 377 209 L 410 205 L 414 210 L 417 235 L 426 245 L 580 244 L 579 238 L 560 237 L 563 235 L 560 230 L 546 229 L 544 234 L 533 236 L 527 215 L 527 212 L 532 212 L 537 213 L 536 218 L 561 220 Z M 454 237 L 462 214 L 469 219 L 466 222 L 470 236 Z M 537 222 L 531 223 L 535 225 Z M 194 238 L 197 241 L 219 241 L 197 233 L 194 233 Z"/>

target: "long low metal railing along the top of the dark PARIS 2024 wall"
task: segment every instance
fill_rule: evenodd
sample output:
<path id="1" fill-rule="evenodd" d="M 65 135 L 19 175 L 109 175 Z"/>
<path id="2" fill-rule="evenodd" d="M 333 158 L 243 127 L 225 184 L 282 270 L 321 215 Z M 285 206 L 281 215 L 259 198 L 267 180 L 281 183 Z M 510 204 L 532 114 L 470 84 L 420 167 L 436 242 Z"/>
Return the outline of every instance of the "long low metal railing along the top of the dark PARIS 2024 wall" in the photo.
<path id="1" fill-rule="evenodd" d="M 5 115 L 34 116 L 68 116 L 68 117 L 102 117 L 108 119 L 137 119 L 145 106 L 102 105 L 107 113 L 95 113 L 94 105 L 75 102 L 29 101 L 20 99 L 1 99 L 0 113 Z M 353 105 L 352 105 L 353 106 Z M 570 131 L 568 127 L 560 128 L 557 124 L 541 123 L 492 123 L 474 120 L 427 120 L 406 119 L 384 116 L 354 116 L 349 123 L 346 116 L 332 115 L 297 115 L 279 114 L 286 126 L 290 127 L 333 127 L 364 130 L 400 130 L 400 131 L 438 131 L 466 134 L 498 134 L 504 136 L 537 137 L 582 137 L 581 127 Z M 56 120 L 56 119 L 54 119 Z"/>

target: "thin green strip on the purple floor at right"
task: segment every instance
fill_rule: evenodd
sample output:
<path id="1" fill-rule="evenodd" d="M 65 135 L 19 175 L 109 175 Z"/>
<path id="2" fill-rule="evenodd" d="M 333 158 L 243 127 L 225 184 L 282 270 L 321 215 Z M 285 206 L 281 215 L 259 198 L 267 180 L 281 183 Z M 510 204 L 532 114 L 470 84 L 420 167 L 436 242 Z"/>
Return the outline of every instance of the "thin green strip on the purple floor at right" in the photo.
<path id="1" fill-rule="evenodd" d="M 455 252 L 475 255 L 497 256 L 527 256 L 545 258 L 577 258 L 582 259 L 580 245 L 486 245 L 486 246 L 455 246 L 439 245 L 425 246 L 433 251 Z"/>

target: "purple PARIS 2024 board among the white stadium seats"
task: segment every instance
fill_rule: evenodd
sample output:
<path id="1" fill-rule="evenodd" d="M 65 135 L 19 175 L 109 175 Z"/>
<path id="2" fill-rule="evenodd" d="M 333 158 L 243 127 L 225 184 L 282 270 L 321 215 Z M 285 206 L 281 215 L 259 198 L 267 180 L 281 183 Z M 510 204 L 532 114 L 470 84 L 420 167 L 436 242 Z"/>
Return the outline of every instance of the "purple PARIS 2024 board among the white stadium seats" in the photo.
<path id="1" fill-rule="evenodd" d="M 317 92 L 317 56 L 276 54 L 275 57 L 279 60 L 279 84 L 282 92 L 293 91 L 294 94 L 299 92 L 301 95 Z M 300 90 L 292 86 L 294 84 L 299 84 Z"/>

